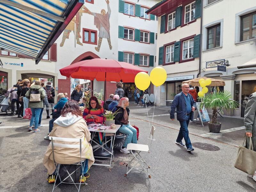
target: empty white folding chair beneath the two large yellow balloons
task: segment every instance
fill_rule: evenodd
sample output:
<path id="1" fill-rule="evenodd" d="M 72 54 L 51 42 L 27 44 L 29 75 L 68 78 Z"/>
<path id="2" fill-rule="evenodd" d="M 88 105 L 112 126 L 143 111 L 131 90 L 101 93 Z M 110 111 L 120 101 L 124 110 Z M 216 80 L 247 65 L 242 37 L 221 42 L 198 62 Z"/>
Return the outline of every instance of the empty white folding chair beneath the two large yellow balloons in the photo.
<path id="1" fill-rule="evenodd" d="M 129 143 L 127 145 L 127 150 L 130 150 L 130 152 L 132 153 L 133 155 L 133 158 L 132 160 L 126 165 L 127 166 L 127 171 L 126 173 L 124 174 L 124 176 L 126 177 L 127 174 L 129 172 L 131 172 L 135 166 L 137 164 L 140 164 L 140 166 L 142 167 L 142 169 L 136 169 L 137 171 L 138 170 L 142 170 L 141 172 L 145 171 L 146 173 L 148 173 L 148 178 L 151 178 L 151 175 L 149 174 L 149 165 L 146 163 L 146 161 L 144 160 L 144 158 L 140 155 L 140 152 L 148 152 L 149 153 L 149 149 L 151 148 L 151 144 L 152 144 L 152 141 L 155 140 L 154 139 L 154 132 L 155 132 L 156 128 L 154 125 L 152 125 L 151 127 L 151 130 L 150 130 L 150 135 L 149 135 L 149 146 L 148 145 L 142 145 L 142 144 L 135 144 L 135 143 Z M 135 153 L 132 152 L 135 151 Z M 131 169 L 128 171 L 128 167 L 129 167 L 129 164 L 132 163 L 133 160 L 137 160 L 137 162 L 131 167 Z M 148 170 L 147 170 L 148 169 Z"/>

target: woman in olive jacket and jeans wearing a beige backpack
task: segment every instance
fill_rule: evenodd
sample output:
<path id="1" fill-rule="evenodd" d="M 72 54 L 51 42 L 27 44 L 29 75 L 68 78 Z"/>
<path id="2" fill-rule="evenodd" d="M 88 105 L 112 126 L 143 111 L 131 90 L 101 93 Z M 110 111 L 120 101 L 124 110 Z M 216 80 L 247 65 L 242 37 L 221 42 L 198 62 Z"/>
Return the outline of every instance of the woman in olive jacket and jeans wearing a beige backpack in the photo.
<path id="1" fill-rule="evenodd" d="M 35 82 L 35 85 L 32 85 L 29 88 L 25 96 L 29 99 L 28 108 L 31 108 L 32 112 L 28 131 L 32 131 L 32 125 L 35 121 L 34 132 L 38 132 L 40 131 L 40 129 L 37 129 L 37 126 L 41 109 L 44 108 L 43 100 L 45 97 L 45 92 L 44 89 L 41 87 L 41 82 L 37 80 Z"/>

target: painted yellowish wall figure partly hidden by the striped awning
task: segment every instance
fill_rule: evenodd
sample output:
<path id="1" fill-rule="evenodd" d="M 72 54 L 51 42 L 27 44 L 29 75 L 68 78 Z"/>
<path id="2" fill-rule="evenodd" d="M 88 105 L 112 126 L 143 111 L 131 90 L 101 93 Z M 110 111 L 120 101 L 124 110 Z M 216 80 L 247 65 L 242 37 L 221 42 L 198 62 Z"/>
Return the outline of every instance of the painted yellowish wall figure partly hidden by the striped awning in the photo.
<path id="1" fill-rule="evenodd" d="M 69 34 L 71 31 L 73 31 L 74 35 L 75 35 L 75 47 L 76 47 L 76 44 L 83 46 L 83 44 L 80 42 L 79 38 L 81 38 L 81 35 L 80 35 L 81 17 L 82 17 L 84 8 L 85 8 L 85 6 L 83 5 L 80 8 L 80 10 L 76 13 L 75 17 L 70 21 L 68 26 L 65 28 L 63 36 L 62 36 L 62 41 L 60 43 L 60 47 L 62 47 L 64 45 L 66 39 L 69 39 Z"/>

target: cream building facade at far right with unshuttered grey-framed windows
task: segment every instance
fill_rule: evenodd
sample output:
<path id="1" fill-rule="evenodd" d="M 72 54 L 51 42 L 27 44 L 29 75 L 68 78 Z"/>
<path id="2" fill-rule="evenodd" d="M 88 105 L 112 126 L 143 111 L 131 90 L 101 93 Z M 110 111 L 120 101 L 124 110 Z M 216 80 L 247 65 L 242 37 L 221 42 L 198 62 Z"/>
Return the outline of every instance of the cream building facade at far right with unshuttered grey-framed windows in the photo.
<path id="1" fill-rule="evenodd" d="M 237 68 L 255 57 L 255 1 L 204 0 L 200 76 L 225 81 L 218 89 L 230 91 L 241 105 L 229 115 L 243 117 L 248 96 L 256 91 L 256 68 Z M 224 60 L 229 66 L 218 68 Z"/>

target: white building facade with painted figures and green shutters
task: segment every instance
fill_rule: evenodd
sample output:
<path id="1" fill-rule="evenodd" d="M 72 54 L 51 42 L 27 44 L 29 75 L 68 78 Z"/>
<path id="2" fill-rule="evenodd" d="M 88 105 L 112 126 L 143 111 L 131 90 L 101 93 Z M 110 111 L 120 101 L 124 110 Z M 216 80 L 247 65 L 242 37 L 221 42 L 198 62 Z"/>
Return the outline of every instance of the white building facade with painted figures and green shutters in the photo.
<path id="1" fill-rule="evenodd" d="M 156 0 L 94 1 L 84 5 L 68 24 L 54 48 L 35 65 L 35 60 L 1 52 L 6 89 L 25 77 L 53 78 L 57 92 L 70 93 L 70 83 L 89 84 L 84 79 L 70 80 L 59 69 L 93 58 L 114 59 L 151 71 L 156 63 L 157 18 L 147 15 Z M 53 58 L 55 57 L 55 58 Z M 47 59 L 46 59 L 47 58 Z M 5 64 L 7 63 L 7 64 Z M 22 67 L 21 67 L 22 63 Z M 104 82 L 93 81 L 93 90 L 100 92 Z M 124 90 L 134 89 L 134 83 L 124 84 Z M 107 82 L 107 96 L 115 92 L 116 83 Z M 153 93 L 153 86 L 149 87 Z"/>

